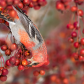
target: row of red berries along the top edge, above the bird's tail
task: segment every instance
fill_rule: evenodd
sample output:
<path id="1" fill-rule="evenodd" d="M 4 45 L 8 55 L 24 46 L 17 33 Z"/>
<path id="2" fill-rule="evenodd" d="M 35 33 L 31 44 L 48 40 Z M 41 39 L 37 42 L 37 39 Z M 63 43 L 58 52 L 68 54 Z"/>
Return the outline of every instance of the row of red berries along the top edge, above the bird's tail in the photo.
<path id="1" fill-rule="evenodd" d="M 13 6 L 18 6 L 25 12 L 28 11 L 28 8 L 34 8 L 36 10 L 40 9 L 41 6 L 47 4 L 46 0 L 0 0 L 0 6 L 3 8 L 3 11 L 12 10 Z"/>

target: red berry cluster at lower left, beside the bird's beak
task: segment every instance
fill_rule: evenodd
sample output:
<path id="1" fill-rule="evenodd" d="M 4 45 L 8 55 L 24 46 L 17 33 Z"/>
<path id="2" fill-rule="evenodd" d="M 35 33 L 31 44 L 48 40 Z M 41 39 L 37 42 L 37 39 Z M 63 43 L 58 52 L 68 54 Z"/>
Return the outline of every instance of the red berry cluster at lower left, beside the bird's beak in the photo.
<path id="1" fill-rule="evenodd" d="M 30 59 L 32 56 L 27 49 L 23 49 L 22 46 L 18 46 L 16 43 L 12 43 L 10 46 L 7 44 L 6 40 L 0 41 L 0 48 L 3 53 L 0 53 L 0 80 L 6 81 L 8 70 L 10 67 L 17 66 L 18 70 L 24 70 L 28 68 L 28 64 L 31 62 L 27 59 Z M 8 58 L 4 60 L 4 55 Z M 2 61 L 3 60 L 3 61 Z M 5 63 L 4 63 L 5 62 Z M 2 65 L 3 64 L 3 65 Z M 3 66 L 3 67 L 2 67 Z"/>

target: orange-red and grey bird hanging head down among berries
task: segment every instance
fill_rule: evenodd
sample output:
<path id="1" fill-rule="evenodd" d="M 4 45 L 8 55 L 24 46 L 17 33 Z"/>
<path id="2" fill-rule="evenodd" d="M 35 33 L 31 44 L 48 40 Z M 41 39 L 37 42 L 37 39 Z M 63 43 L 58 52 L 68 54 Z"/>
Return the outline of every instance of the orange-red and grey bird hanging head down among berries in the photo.
<path id="1" fill-rule="evenodd" d="M 44 39 L 36 25 L 20 8 L 14 7 L 18 18 L 11 19 L 0 11 L 0 18 L 9 23 L 9 29 L 16 41 L 32 53 L 28 66 L 40 67 L 48 62 L 47 48 Z"/>

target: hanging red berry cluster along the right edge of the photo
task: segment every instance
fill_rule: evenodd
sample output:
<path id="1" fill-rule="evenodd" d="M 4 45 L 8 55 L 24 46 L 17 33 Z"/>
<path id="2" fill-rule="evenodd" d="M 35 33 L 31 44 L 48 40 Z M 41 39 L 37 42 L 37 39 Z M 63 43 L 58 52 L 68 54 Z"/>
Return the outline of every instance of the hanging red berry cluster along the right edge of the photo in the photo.
<path id="1" fill-rule="evenodd" d="M 63 0 L 66 2 L 66 0 Z M 64 3 L 62 0 L 60 0 L 60 3 L 64 6 Z M 74 3 L 74 6 L 70 6 L 70 3 Z M 83 21 L 83 10 L 80 9 L 78 6 L 82 5 L 84 3 L 84 0 L 71 0 L 69 2 L 70 6 L 70 12 L 71 12 L 71 18 L 75 20 L 71 21 L 67 24 L 67 29 L 71 30 L 71 36 L 69 38 L 69 41 L 73 44 L 75 48 L 75 53 L 73 53 L 73 57 L 75 59 L 78 59 L 80 61 L 84 61 L 84 38 L 82 37 L 84 34 L 84 29 L 81 28 L 80 21 Z M 58 3 L 58 2 L 57 2 Z M 61 7 L 61 6 L 60 6 Z M 58 9 L 58 5 L 56 6 Z M 62 10 L 63 7 L 61 7 L 60 10 Z M 62 10 L 63 11 L 63 10 Z"/>

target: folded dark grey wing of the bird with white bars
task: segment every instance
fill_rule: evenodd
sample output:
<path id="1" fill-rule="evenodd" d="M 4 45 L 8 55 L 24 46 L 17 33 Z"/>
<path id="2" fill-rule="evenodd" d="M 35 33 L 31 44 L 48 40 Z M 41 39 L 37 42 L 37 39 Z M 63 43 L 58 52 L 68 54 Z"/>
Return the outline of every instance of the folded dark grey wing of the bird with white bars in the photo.
<path id="1" fill-rule="evenodd" d="M 30 18 L 18 7 L 17 7 L 17 9 L 15 7 L 13 7 L 13 8 L 17 12 L 20 22 L 22 23 L 25 30 L 29 34 L 30 38 L 33 38 L 34 40 L 37 40 L 38 43 L 41 43 L 43 41 L 41 34 L 38 31 L 38 29 L 34 26 L 33 22 L 30 20 Z"/>

